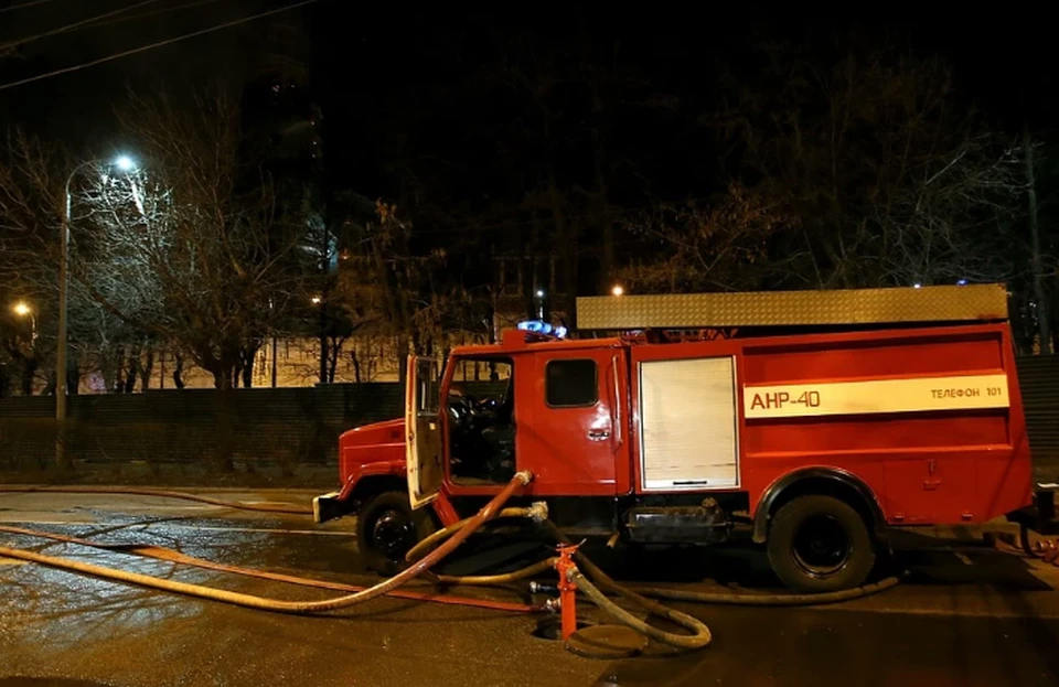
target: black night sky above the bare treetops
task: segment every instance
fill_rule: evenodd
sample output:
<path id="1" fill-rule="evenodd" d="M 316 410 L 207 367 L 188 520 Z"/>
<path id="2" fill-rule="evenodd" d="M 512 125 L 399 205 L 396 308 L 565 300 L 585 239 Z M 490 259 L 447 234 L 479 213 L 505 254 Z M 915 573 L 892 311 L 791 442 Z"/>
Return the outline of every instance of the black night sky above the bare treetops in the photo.
<path id="1" fill-rule="evenodd" d="M 28 0 L 3 0 L 0 9 Z M 142 0 L 46 0 L 0 12 L 0 42 L 10 43 Z M 110 53 L 289 4 L 286 0 L 154 0 L 129 12 L 18 46 L 0 60 L 0 83 L 43 74 Z M 769 37 L 827 51 L 828 34 L 845 31 L 854 42 L 885 40 L 922 54 L 951 58 L 960 89 L 1006 127 L 1024 118 L 1048 129 L 1057 114 L 1056 78 L 1046 22 L 1016 14 L 967 15 L 930 21 L 900 17 L 841 21 L 835 18 L 704 15 L 687 6 L 652 4 L 653 13 L 601 11 L 591 6 L 534 3 L 532 9 L 415 11 L 397 4 L 322 0 L 238 28 L 226 29 L 108 64 L 0 92 L 0 117 L 60 138 L 75 148 L 109 150 L 115 140 L 113 108 L 128 85 L 180 89 L 218 75 L 238 79 L 253 69 L 266 22 L 298 22 L 309 52 L 301 55 L 312 79 L 312 98 L 325 118 L 327 169 L 336 185 L 368 195 L 387 189 L 384 159 L 403 138 L 409 112 L 435 117 L 431 136 L 443 139 L 446 89 L 458 88 L 483 64 L 558 46 L 586 53 L 617 53 L 660 93 L 708 107 L 718 61 L 740 63 L 751 40 Z M 853 33 L 849 33 L 853 30 Z M 853 36 L 853 37 L 849 37 Z M 0 44 L 2 44 L 0 43 Z M 606 57 L 603 57 L 606 60 Z M 479 104 L 490 107 L 488 99 Z M 424 107 L 432 108 L 424 115 Z M 407 124 L 407 122 L 406 122 Z M 420 122 L 421 124 L 421 122 Z M 419 125 L 417 125 L 419 126 Z M 645 137 L 651 133 L 646 132 Z M 442 146 L 445 147 L 445 146 Z M 448 146 L 448 148 L 452 148 Z M 458 154 L 458 150 L 449 150 Z M 469 155 L 473 151 L 468 151 Z M 451 155 L 450 155 L 451 157 Z"/>

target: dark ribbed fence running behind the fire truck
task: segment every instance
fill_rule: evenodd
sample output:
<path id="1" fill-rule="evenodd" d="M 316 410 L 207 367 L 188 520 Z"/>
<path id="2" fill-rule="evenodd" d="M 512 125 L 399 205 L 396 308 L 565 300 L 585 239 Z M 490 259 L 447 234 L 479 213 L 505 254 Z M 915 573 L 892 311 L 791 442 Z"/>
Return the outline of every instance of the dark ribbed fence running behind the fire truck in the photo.
<path id="1" fill-rule="evenodd" d="M 1059 355 L 1019 359 L 1038 480 L 1059 480 Z M 495 383 L 463 383 L 495 393 Z M 501 383 L 502 386 L 502 383 Z M 332 465 L 343 431 L 400 417 L 394 383 L 307 388 L 152 390 L 74 396 L 66 436 L 76 463 Z M 54 399 L 0 399 L 0 471 L 43 468 L 55 458 Z"/>

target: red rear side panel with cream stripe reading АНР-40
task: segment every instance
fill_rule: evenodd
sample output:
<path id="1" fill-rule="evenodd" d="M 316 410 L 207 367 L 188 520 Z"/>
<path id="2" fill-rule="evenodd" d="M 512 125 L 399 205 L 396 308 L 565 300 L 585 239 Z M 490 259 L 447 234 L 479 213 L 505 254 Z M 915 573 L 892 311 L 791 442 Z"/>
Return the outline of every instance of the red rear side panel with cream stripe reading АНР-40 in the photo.
<path id="1" fill-rule="evenodd" d="M 836 383 L 866 383 L 834 415 L 744 418 L 751 508 L 773 481 L 809 464 L 860 477 L 891 524 L 984 522 L 1028 502 L 1029 451 L 1004 325 L 753 342 L 741 369 L 745 395 L 790 385 L 809 390 L 806 402 L 846 388 Z"/>

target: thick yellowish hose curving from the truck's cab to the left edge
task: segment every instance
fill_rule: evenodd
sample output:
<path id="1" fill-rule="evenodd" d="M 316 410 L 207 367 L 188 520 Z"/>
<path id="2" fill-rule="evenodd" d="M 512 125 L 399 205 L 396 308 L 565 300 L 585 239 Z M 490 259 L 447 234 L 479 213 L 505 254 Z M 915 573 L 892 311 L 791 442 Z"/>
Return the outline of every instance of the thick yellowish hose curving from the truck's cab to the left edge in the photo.
<path id="1" fill-rule="evenodd" d="M 161 579 L 149 575 L 140 575 L 138 572 L 127 572 L 125 570 L 116 570 L 114 568 L 104 568 L 101 566 L 95 566 L 92 563 L 56 558 L 53 556 L 36 554 L 34 551 L 25 551 L 9 547 L 0 547 L 0 557 L 28 560 L 30 562 L 35 562 L 52 568 L 71 570 L 73 572 L 82 572 L 118 582 L 128 582 L 132 584 L 139 584 L 141 587 L 160 589 L 162 591 L 195 597 L 199 599 L 208 599 L 212 601 L 232 603 L 235 605 L 242 605 L 261 611 L 276 611 L 280 613 L 320 613 L 357 605 L 384 594 L 388 594 L 398 587 L 402 587 L 406 582 L 416 578 L 425 570 L 451 554 L 464 539 L 470 537 L 474 530 L 480 528 L 486 520 L 492 518 L 500 507 L 503 506 L 509 498 L 511 498 L 515 491 L 528 484 L 532 479 L 533 475 L 528 472 L 520 472 L 515 474 L 515 476 L 511 479 L 507 485 L 499 494 L 496 494 L 492 501 L 485 504 L 485 506 L 483 506 L 482 509 L 474 515 L 474 517 L 467 522 L 464 527 L 462 527 L 459 532 L 456 532 L 447 541 L 445 541 L 445 544 L 431 551 L 425 558 L 409 566 L 396 576 L 383 580 L 378 584 L 370 587 L 363 591 L 334 599 L 327 599 L 323 601 L 284 601 L 278 599 L 267 599 L 253 594 L 225 591 L 213 587 L 203 587 L 200 584 L 189 584 L 186 582 Z"/>

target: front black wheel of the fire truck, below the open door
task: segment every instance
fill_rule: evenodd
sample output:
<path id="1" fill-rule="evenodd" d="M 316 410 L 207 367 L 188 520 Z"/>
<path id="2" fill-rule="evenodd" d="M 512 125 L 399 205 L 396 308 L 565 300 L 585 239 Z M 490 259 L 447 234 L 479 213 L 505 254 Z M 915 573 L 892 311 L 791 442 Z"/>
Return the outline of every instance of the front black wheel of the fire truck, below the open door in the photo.
<path id="1" fill-rule="evenodd" d="M 356 545 L 368 569 L 395 575 L 405 554 L 436 532 L 428 508 L 411 509 L 406 492 L 372 496 L 356 516 Z"/>

